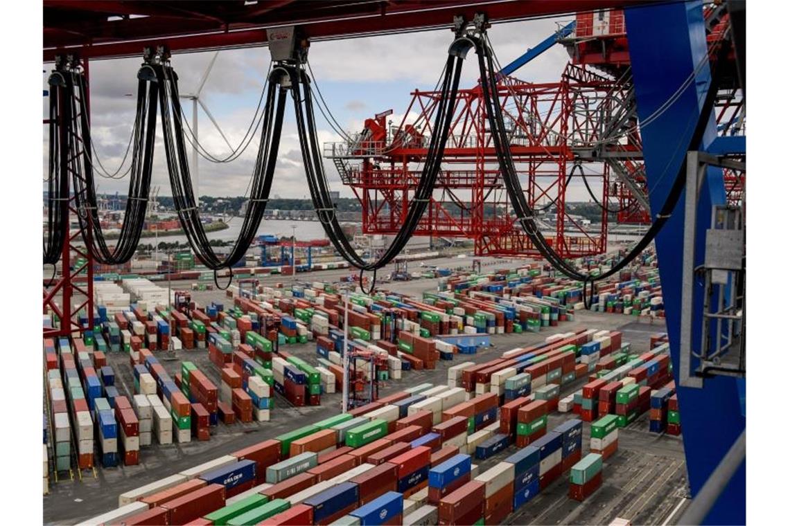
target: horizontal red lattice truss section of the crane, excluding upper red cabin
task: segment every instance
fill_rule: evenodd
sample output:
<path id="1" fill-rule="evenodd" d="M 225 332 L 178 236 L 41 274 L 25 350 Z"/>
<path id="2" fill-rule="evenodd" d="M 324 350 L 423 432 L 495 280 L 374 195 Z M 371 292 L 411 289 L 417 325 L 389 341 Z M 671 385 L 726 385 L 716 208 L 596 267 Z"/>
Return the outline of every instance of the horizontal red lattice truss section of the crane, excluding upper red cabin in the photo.
<path id="1" fill-rule="evenodd" d="M 610 194 L 610 167 L 582 152 L 597 147 L 603 155 L 641 155 L 641 145 L 634 141 L 603 146 L 597 142 L 601 115 L 615 114 L 626 90 L 617 80 L 572 64 L 557 83 L 503 77 L 498 86 L 525 196 L 540 212 L 547 240 L 563 257 L 605 252 L 608 215 L 602 210 L 600 222 L 591 226 L 570 214 L 567 183 L 574 163 L 581 163 L 598 200 L 609 210 L 618 209 L 618 196 Z M 344 184 L 362 203 L 365 233 L 393 234 L 401 226 L 419 181 L 419 165 L 427 155 L 439 95 L 414 91 L 407 117 L 395 129 L 388 131 L 387 114 L 379 114 L 368 119 L 352 141 L 325 144 L 325 155 L 334 160 Z M 416 235 L 471 238 L 479 256 L 537 256 L 499 177 L 482 102 L 479 85 L 458 93 L 437 189 Z M 578 170 L 574 178 L 580 178 Z"/>

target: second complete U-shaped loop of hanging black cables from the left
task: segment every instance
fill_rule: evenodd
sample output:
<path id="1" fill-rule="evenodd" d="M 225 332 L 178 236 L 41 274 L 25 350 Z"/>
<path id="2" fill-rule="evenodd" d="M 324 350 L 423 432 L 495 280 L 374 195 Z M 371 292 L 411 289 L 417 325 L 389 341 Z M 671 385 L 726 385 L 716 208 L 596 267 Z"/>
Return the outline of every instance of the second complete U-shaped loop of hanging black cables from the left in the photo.
<path id="1" fill-rule="evenodd" d="M 284 73 L 282 69 L 275 68 L 269 75 L 266 105 L 261 121 L 261 141 L 252 175 L 249 203 L 246 207 L 239 238 L 235 241 L 228 256 L 222 259 L 216 255 L 209 244 L 209 239 L 206 237 L 205 229 L 201 223 L 198 205 L 195 202 L 184 142 L 185 129 L 179 100 L 178 76 L 171 66 L 163 61 L 162 64 L 156 66 L 156 77 L 163 86 L 163 89 L 160 90 L 159 102 L 165 156 L 173 191 L 173 203 L 178 212 L 182 229 L 184 229 L 186 237 L 201 263 L 211 270 L 230 269 L 243 258 L 250 247 L 269 201 L 277 151 L 280 147 L 280 132 L 286 101 L 286 88 L 282 83 L 287 80 L 287 73 Z"/>

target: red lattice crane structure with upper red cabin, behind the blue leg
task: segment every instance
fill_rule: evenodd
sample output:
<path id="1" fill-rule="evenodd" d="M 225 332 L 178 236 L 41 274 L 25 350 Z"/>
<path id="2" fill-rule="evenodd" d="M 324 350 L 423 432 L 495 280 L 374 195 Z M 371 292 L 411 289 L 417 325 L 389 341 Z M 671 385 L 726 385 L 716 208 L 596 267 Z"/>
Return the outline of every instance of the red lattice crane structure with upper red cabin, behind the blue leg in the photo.
<path id="1" fill-rule="evenodd" d="M 705 12 L 712 43 L 728 24 L 718 12 Z M 639 132 L 645 124 L 636 117 L 622 10 L 578 13 L 574 31 L 558 34 L 556 42 L 570 54 L 558 82 L 500 75 L 498 95 L 529 206 L 559 255 L 577 258 L 606 251 L 611 218 L 651 222 Z M 415 194 L 440 94 L 411 95 L 397 126 L 386 120 L 389 110 L 367 119 L 363 131 L 344 142 L 324 146 L 362 204 L 364 233 L 397 233 Z M 540 256 L 513 215 L 499 176 L 480 85 L 459 91 L 458 101 L 438 185 L 416 235 L 472 239 L 476 256 Z M 722 99 L 720 125 L 736 125 L 742 104 L 735 90 Z M 600 206 L 600 222 L 586 224 L 566 206 L 568 183 L 580 176 Z M 725 173 L 725 181 L 731 200 L 739 200 L 743 175 Z"/>

